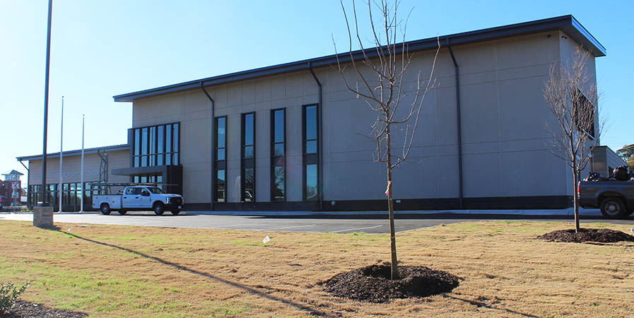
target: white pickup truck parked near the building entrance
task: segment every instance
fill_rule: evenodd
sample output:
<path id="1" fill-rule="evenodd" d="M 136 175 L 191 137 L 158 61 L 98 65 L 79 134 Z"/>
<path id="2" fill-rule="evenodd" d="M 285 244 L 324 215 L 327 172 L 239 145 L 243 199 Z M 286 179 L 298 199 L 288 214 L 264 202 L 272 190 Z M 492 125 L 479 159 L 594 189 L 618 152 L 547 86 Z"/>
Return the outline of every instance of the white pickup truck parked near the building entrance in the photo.
<path id="1" fill-rule="evenodd" d="M 93 208 L 108 215 L 111 211 L 125 214 L 127 211 L 154 211 L 157 216 L 165 210 L 177 215 L 182 210 L 183 198 L 179 194 L 165 193 L 159 187 L 130 186 L 123 194 L 93 194 Z"/>

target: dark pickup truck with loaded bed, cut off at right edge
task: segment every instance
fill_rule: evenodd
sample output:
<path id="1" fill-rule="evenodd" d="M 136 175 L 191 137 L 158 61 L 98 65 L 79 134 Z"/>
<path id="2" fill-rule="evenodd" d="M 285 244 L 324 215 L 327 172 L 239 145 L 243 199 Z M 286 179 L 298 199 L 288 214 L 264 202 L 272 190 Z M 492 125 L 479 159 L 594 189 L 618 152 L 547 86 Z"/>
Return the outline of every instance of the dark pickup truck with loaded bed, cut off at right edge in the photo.
<path id="1" fill-rule="evenodd" d="M 634 181 L 582 181 L 577 187 L 582 208 L 600 208 L 607 218 L 634 212 Z"/>

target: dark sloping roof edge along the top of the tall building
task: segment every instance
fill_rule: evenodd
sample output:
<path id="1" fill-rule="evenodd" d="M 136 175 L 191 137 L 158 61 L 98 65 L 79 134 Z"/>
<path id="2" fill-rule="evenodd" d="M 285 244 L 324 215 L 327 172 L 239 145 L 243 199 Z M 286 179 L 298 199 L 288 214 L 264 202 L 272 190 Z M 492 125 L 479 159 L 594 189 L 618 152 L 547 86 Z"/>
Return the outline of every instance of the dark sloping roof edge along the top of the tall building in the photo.
<path id="1" fill-rule="evenodd" d="M 443 35 L 442 37 L 430 37 L 428 39 L 405 42 L 405 45 L 410 52 L 416 52 L 426 49 L 435 49 L 436 47 L 438 47 L 438 41 L 440 41 L 441 46 L 447 45 L 449 43 L 452 46 L 466 45 L 474 42 L 497 40 L 504 37 L 527 35 L 532 33 L 547 32 L 551 30 L 563 30 L 570 37 L 573 37 L 573 40 L 579 42 L 581 45 L 583 45 L 583 47 L 592 52 L 594 57 L 604 57 L 606 55 L 606 49 L 601 45 L 601 43 L 599 43 L 597 39 L 595 39 L 573 16 L 570 15 L 559 16 L 556 18 L 546 18 L 542 20 L 534 20 L 512 25 L 503 25 L 500 27 L 475 30 L 465 33 Z M 399 48 L 397 49 L 397 51 L 401 51 L 401 49 Z M 375 57 L 377 55 L 377 50 L 374 48 L 366 48 L 365 54 L 368 55 L 368 57 Z M 324 66 L 331 66 L 337 63 L 338 58 L 341 63 L 351 61 L 351 56 L 355 60 L 363 59 L 363 52 L 361 50 L 357 50 L 353 51 L 352 53 L 346 52 L 340 54 L 332 54 L 326 57 L 317 57 L 314 59 L 305 59 L 302 61 L 294 61 L 286 64 L 266 66 L 259 69 L 239 71 L 220 76 L 201 78 L 195 81 L 177 83 L 170 86 L 162 86 L 159 88 L 140 90 L 134 93 L 116 95 L 113 98 L 115 98 L 115 102 L 132 102 L 140 98 L 148 98 L 156 95 L 174 93 L 182 90 L 192 90 L 200 88 L 201 86 L 212 86 L 223 83 L 242 81 L 246 79 L 259 78 L 263 76 L 274 76 L 282 73 L 290 73 L 293 71 L 305 71 L 310 69 L 311 67 L 319 68 Z"/>

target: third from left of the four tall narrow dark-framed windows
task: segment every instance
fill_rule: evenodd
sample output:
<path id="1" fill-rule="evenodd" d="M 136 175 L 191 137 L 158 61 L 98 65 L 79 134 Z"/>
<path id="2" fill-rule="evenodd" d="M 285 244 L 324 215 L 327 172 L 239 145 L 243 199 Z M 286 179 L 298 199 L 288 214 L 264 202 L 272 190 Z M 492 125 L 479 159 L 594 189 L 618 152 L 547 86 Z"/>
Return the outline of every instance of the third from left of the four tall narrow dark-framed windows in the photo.
<path id="1" fill-rule="evenodd" d="M 271 110 L 271 201 L 286 200 L 286 112 Z"/>

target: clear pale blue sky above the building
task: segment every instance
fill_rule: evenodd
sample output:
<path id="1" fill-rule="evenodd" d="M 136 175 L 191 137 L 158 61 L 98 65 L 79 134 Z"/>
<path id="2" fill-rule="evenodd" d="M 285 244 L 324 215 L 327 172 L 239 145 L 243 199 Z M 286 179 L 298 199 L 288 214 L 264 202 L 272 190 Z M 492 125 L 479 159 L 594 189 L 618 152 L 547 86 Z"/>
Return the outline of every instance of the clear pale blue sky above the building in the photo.
<path id="1" fill-rule="evenodd" d="M 131 104 L 112 95 L 333 54 L 347 35 L 339 1 L 53 1 L 49 152 L 127 142 Z M 346 1 L 346 4 L 348 1 Z M 632 1 L 409 1 L 406 40 L 572 14 L 607 49 L 597 59 L 602 143 L 634 143 Z M 42 151 L 46 0 L 0 0 L 0 171 Z M 26 178 L 24 178 L 26 179 Z"/>

